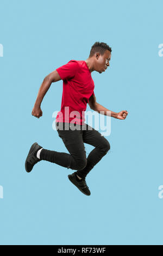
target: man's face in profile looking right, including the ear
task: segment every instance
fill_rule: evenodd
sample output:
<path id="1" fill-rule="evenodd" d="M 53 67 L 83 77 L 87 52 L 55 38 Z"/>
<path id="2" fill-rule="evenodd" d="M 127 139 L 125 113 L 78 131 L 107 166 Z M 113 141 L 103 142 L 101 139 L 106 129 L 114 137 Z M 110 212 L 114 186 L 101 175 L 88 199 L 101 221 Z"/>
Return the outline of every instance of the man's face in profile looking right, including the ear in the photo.
<path id="1" fill-rule="evenodd" d="M 96 58 L 96 71 L 101 74 L 102 72 L 105 71 L 108 66 L 110 66 L 109 62 L 111 59 L 111 52 L 109 50 L 106 50 L 103 54 L 103 56 L 100 53 L 96 53 L 95 55 Z"/>

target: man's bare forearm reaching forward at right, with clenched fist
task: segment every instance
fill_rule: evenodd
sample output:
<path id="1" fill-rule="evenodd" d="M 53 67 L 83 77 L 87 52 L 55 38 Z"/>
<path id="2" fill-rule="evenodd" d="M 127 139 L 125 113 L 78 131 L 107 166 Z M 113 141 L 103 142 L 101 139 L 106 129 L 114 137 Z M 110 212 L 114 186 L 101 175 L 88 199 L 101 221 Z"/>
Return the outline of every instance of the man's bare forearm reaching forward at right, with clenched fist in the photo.
<path id="1" fill-rule="evenodd" d="M 88 103 L 89 103 L 90 108 L 93 109 L 94 111 L 97 111 L 99 114 L 108 115 L 109 117 L 111 115 L 111 117 L 121 119 L 121 120 L 125 119 L 128 115 L 127 110 L 123 110 L 123 111 L 120 111 L 119 113 L 116 113 L 116 112 L 110 111 L 109 109 L 103 107 L 102 105 L 97 103 L 95 95 L 92 95 L 90 97 Z M 103 113 L 100 113 L 101 111 L 103 111 Z"/>

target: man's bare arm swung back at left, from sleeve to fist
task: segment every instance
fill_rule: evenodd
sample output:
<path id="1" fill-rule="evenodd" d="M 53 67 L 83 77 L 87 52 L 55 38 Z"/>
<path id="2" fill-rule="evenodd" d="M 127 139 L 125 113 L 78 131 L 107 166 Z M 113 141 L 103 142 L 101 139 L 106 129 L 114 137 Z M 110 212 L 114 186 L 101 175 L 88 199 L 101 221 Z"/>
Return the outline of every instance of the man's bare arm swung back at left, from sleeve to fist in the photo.
<path id="1" fill-rule="evenodd" d="M 43 100 L 43 97 L 47 93 L 48 89 L 51 87 L 51 84 L 60 80 L 61 77 L 59 76 L 57 70 L 54 70 L 51 74 L 47 75 L 44 78 L 39 89 L 39 93 L 37 94 L 35 105 L 32 110 L 32 115 L 34 115 L 34 117 L 42 117 L 41 102 Z"/>

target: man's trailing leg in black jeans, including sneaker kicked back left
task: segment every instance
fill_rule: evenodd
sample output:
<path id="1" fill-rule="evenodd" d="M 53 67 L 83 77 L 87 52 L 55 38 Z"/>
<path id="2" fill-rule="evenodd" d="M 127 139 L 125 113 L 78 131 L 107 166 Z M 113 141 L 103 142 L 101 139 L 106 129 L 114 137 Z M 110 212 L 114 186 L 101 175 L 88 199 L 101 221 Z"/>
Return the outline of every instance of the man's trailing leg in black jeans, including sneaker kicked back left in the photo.
<path id="1" fill-rule="evenodd" d="M 40 145 L 34 143 L 30 148 L 26 159 L 26 170 L 30 172 L 35 163 L 46 160 L 57 163 L 62 167 L 74 170 L 83 169 L 86 166 L 86 153 L 83 143 L 82 131 L 79 130 L 57 130 L 59 137 L 64 142 L 70 154 L 61 153 L 47 149 L 41 149 Z M 40 159 L 37 158 L 37 152 L 40 151 Z"/>

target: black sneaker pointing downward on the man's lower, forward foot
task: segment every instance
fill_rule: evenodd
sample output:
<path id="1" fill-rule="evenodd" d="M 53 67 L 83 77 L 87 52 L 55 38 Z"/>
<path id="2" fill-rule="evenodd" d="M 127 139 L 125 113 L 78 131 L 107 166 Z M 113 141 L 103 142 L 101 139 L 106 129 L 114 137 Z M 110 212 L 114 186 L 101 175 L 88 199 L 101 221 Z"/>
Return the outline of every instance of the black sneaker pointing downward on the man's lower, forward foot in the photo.
<path id="1" fill-rule="evenodd" d="M 89 190 L 89 187 L 86 185 L 85 179 L 82 179 L 80 181 L 77 180 L 76 174 L 72 173 L 68 175 L 68 179 L 77 187 L 81 192 L 86 194 L 86 196 L 90 196 L 91 192 Z"/>

